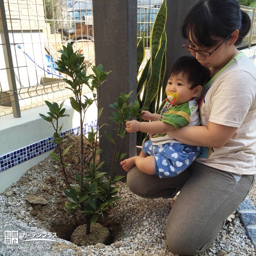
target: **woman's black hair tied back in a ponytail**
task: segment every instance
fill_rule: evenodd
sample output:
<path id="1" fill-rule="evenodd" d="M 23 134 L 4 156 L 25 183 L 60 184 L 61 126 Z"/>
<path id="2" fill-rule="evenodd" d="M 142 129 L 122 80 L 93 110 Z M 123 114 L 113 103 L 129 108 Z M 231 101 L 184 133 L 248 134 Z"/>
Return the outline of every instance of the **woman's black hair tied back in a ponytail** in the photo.
<path id="1" fill-rule="evenodd" d="M 249 15 L 242 11 L 238 0 L 199 0 L 187 14 L 182 25 L 182 36 L 196 45 L 212 47 L 218 43 L 212 37 L 227 38 L 236 29 L 239 45 L 251 26 Z"/>

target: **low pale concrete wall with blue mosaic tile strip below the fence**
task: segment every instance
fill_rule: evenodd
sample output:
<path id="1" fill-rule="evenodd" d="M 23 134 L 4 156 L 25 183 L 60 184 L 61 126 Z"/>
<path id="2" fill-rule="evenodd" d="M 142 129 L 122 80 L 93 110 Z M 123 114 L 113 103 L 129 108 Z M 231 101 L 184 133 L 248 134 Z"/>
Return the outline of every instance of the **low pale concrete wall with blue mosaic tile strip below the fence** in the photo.
<path id="1" fill-rule="evenodd" d="M 91 97 L 91 94 L 87 94 L 87 96 Z M 61 101 L 58 103 L 60 104 Z M 65 101 L 63 107 L 66 108 L 66 114 L 70 116 L 62 118 L 64 123 L 62 131 L 72 128 L 74 128 L 74 132 L 77 131 L 80 126 L 79 113 L 74 111 L 69 100 Z M 39 116 L 39 113 L 47 115 L 47 112 L 48 108 L 44 105 L 22 111 L 21 118 L 14 118 L 13 115 L 0 117 L 0 167 L 3 166 L 3 161 L 7 159 L 7 156 L 10 161 L 13 161 L 11 163 L 13 167 L 5 170 L 0 168 L 2 170 L 0 171 L 0 192 L 8 188 L 12 182 L 17 182 L 29 168 L 49 155 L 50 148 L 47 148 L 46 145 L 40 149 L 36 149 L 37 145 L 35 145 L 39 141 L 47 141 L 54 134 L 52 125 Z M 88 125 L 85 127 L 86 130 L 91 124 L 95 124 L 95 121 L 96 106 L 94 104 L 87 111 L 85 124 L 87 123 Z M 32 147 L 34 151 L 30 153 L 30 156 L 27 153 L 26 160 L 22 159 L 23 161 L 20 160 L 20 163 L 18 163 L 16 156 L 21 154 L 20 150 L 23 149 L 24 151 L 24 149 L 28 148 L 27 152 L 29 152 L 29 148 Z M 40 152 L 35 152 L 36 150 Z M 44 151 L 47 152 L 43 153 Z M 31 156 L 32 153 L 36 156 Z M 3 159 L 3 156 L 5 156 L 5 159 Z M 16 157 L 16 160 L 11 160 L 13 156 Z M 24 158 L 24 155 L 20 157 Z"/>

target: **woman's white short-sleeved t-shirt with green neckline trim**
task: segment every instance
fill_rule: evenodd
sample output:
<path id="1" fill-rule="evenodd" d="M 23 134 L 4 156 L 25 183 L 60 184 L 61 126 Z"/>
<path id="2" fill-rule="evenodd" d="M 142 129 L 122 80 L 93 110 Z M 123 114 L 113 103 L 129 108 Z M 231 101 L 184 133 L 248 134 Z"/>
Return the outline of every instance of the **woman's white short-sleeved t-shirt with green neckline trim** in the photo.
<path id="1" fill-rule="evenodd" d="M 195 161 L 238 175 L 254 175 L 256 155 L 256 66 L 238 54 L 209 81 L 200 109 L 201 122 L 237 127 L 222 147 L 213 148 L 208 159 Z"/>

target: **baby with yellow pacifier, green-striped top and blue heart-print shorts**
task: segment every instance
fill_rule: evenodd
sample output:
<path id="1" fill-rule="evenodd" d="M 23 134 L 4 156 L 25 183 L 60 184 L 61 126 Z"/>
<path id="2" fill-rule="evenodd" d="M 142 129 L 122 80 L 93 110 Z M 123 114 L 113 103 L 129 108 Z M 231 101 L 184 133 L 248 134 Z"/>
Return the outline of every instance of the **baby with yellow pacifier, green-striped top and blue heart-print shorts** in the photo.
<path id="1" fill-rule="evenodd" d="M 161 114 L 142 111 L 141 117 L 151 122 L 126 122 L 129 133 L 141 131 L 156 134 L 143 144 L 141 154 L 121 162 L 127 172 L 136 165 L 141 172 L 160 178 L 180 174 L 201 153 L 201 148 L 176 141 L 167 132 L 186 125 L 199 125 L 198 104 L 195 97 L 209 81 L 210 72 L 193 56 L 183 56 L 169 73 L 165 92 L 167 102 Z"/>

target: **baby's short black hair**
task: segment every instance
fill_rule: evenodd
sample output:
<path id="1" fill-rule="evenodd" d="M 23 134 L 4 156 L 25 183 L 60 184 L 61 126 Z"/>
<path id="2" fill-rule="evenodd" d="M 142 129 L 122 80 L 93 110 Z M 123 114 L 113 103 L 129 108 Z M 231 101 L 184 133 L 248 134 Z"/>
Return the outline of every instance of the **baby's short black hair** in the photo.
<path id="1" fill-rule="evenodd" d="M 210 80 L 209 68 L 203 67 L 193 56 L 180 57 L 171 67 L 168 77 L 182 73 L 191 84 L 190 89 L 205 85 Z"/>

